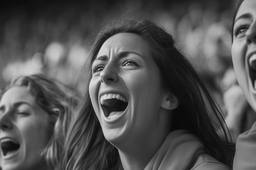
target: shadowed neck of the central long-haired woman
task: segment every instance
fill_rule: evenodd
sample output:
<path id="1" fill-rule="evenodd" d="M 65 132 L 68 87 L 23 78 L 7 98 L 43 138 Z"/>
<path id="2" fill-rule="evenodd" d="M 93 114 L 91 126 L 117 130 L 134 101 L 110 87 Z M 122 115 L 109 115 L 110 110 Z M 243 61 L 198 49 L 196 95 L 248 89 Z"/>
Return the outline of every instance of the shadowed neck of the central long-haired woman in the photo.
<path id="1" fill-rule="evenodd" d="M 113 144 L 119 152 L 124 170 L 144 170 L 171 132 L 171 114 L 159 113 L 157 121 L 136 129 L 125 140 Z"/>

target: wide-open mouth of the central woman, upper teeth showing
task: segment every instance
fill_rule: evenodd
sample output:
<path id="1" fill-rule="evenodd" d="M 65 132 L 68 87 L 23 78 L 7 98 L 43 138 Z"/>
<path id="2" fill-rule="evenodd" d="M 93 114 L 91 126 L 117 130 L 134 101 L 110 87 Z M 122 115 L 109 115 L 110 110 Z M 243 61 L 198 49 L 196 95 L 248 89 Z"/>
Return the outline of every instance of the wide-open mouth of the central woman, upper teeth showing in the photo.
<path id="1" fill-rule="evenodd" d="M 115 93 L 102 95 L 100 102 L 104 115 L 108 119 L 118 117 L 128 106 L 127 99 L 124 96 Z"/>

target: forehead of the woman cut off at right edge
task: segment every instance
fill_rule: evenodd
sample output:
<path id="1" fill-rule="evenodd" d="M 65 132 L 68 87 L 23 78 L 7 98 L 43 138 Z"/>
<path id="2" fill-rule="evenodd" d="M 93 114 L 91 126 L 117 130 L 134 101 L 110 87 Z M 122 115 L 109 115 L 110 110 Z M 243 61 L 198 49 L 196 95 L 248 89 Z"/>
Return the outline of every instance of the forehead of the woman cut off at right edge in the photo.
<path id="1" fill-rule="evenodd" d="M 256 0 L 244 0 L 238 9 L 236 18 L 244 13 L 256 13 Z"/>

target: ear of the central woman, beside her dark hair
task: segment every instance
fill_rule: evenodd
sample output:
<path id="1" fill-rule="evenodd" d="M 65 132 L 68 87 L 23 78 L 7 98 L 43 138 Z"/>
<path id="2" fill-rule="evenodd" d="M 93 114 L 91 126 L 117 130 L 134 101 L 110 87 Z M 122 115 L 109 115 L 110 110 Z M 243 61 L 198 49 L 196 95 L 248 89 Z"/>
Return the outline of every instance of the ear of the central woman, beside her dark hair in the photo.
<path id="1" fill-rule="evenodd" d="M 179 104 L 180 104 L 180 100 L 175 95 L 173 95 L 173 93 L 171 92 L 164 93 L 162 103 L 161 103 L 162 108 L 166 110 L 173 110 L 177 108 Z"/>

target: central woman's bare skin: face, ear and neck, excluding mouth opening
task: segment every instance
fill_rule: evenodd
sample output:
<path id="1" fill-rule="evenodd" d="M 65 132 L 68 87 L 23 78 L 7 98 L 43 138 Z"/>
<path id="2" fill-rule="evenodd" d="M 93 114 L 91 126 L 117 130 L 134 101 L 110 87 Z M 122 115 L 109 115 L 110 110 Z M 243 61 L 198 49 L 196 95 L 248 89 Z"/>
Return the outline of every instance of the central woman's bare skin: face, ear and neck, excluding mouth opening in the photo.
<path id="1" fill-rule="evenodd" d="M 149 49 L 139 35 L 118 33 L 104 42 L 92 64 L 92 105 L 105 138 L 119 150 L 124 169 L 144 169 L 171 131 L 170 110 L 178 105 L 163 90 Z M 100 97 L 106 93 L 121 94 L 128 101 L 115 119 L 107 119 L 101 108 Z"/>

